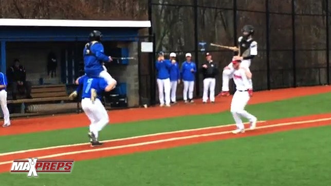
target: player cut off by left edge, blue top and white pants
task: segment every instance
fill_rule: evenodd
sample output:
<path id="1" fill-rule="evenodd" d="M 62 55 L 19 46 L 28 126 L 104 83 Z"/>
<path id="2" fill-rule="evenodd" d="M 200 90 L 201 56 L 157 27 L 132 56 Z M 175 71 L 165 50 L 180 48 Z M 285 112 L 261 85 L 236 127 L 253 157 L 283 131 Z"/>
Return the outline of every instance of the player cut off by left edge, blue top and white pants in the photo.
<path id="1" fill-rule="evenodd" d="M 0 104 L 1 109 L 4 114 L 4 124 L 3 127 L 10 126 L 10 120 L 9 120 L 9 110 L 7 107 L 7 78 L 6 75 L 4 75 L 3 72 L 0 72 Z"/>

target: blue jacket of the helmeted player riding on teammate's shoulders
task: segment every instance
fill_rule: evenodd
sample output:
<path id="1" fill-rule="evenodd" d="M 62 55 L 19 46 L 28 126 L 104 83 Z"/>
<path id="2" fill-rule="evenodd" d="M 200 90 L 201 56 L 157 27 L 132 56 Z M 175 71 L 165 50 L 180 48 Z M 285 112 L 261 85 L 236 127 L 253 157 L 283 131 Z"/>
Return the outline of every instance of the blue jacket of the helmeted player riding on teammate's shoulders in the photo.
<path id="1" fill-rule="evenodd" d="M 90 53 L 88 54 L 88 49 Z M 83 50 L 84 71 L 88 77 L 99 77 L 99 73 L 103 71 L 102 62 L 107 62 L 108 56 L 104 54 L 103 45 L 93 41 L 85 45 Z"/>

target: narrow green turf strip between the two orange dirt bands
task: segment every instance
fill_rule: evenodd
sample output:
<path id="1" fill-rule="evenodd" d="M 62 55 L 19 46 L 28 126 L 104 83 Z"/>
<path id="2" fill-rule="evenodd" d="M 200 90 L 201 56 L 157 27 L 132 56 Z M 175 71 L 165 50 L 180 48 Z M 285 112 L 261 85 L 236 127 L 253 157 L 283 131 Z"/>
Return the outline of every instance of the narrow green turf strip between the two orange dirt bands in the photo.
<path id="1" fill-rule="evenodd" d="M 277 102 L 248 105 L 247 110 L 259 120 L 280 119 L 331 112 L 331 93 L 306 96 Z M 312 106 L 313 105 L 313 106 Z M 106 126 L 100 132 L 100 140 L 124 138 L 180 129 L 216 126 L 234 123 L 229 111 L 219 114 L 183 116 Z M 70 125 L 70 123 L 68 123 Z M 56 131 L 0 136 L 0 153 L 31 148 L 88 142 L 88 127 Z"/>

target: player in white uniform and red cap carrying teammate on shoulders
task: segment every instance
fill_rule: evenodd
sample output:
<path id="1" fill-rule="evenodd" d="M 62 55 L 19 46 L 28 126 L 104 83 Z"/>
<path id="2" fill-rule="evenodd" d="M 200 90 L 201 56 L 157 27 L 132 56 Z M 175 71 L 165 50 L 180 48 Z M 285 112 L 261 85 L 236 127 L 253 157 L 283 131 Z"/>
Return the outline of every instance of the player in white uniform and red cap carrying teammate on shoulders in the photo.
<path id="1" fill-rule="evenodd" d="M 254 129 L 256 126 L 255 116 L 249 114 L 245 110 L 245 106 L 248 103 L 250 97 L 253 94 L 251 85 L 247 79 L 247 68 L 241 67 L 242 62 L 240 60 L 232 61 L 232 67 L 234 69 L 232 78 L 236 87 L 232 101 L 231 101 L 231 114 L 237 126 L 237 129 L 232 131 L 233 134 L 244 133 L 245 127 L 241 117 L 247 118 L 250 122 L 250 129 Z M 248 72 L 250 73 L 250 72 Z"/>

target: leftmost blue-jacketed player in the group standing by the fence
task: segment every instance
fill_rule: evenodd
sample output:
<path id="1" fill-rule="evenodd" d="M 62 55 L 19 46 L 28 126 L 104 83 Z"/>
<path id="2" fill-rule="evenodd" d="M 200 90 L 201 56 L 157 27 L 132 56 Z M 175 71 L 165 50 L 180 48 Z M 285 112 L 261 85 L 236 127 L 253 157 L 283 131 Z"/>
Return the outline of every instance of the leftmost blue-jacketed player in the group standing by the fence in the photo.
<path id="1" fill-rule="evenodd" d="M 164 106 L 164 100 L 166 100 L 166 106 L 170 107 L 170 74 L 171 69 L 170 60 L 164 60 L 164 53 L 159 52 L 159 57 L 155 62 L 157 69 L 157 86 L 159 89 L 159 101 L 160 106 Z"/>

